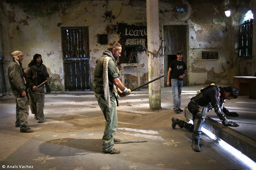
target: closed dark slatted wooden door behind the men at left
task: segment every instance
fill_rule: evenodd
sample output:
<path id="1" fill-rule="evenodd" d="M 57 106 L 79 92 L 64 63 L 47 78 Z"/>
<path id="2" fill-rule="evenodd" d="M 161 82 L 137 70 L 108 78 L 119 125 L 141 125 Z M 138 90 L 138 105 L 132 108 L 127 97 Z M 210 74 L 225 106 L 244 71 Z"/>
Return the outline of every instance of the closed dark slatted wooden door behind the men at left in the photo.
<path id="1" fill-rule="evenodd" d="M 66 91 L 90 90 L 88 27 L 61 28 Z"/>

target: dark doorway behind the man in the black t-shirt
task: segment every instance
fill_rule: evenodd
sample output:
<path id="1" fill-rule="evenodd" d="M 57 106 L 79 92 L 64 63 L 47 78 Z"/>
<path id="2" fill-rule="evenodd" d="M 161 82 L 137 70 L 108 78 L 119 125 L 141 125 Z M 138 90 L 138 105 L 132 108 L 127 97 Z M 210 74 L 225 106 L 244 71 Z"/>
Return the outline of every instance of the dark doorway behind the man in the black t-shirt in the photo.
<path id="1" fill-rule="evenodd" d="M 169 66 L 172 60 L 175 60 L 176 53 L 182 51 L 184 56 L 182 60 L 187 65 L 187 26 L 186 25 L 164 25 L 163 26 L 163 37 L 164 37 L 164 46 L 165 55 L 164 55 L 164 87 L 167 87 L 167 73 Z M 187 85 L 186 76 L 183 78 L 183 86 Z"/>

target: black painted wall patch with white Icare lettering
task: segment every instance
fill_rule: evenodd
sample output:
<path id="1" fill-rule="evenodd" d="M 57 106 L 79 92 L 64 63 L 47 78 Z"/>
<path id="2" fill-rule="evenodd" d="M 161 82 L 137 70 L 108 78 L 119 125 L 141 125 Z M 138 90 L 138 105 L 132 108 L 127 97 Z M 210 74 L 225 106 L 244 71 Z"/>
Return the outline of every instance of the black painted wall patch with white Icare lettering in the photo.
<path id="1" fill-rule="evenodd" d="M 138 52 L 144 50 L 147 46 L 147 26 L 127 25 L 118 23 L 117 33 L 120 34 L 120 42 L 123 42 L 125 47 L 136 47 Z"/>

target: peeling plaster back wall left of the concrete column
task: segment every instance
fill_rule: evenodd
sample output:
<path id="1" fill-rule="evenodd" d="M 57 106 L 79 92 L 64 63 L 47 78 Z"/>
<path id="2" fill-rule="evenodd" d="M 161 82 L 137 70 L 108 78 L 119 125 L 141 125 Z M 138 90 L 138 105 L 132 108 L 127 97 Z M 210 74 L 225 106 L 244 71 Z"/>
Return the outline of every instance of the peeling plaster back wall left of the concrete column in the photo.
<path id="1" fill-rule="evenodd" d="M 27 3 L 5 3 L 5 10 L 8 12 L 9 19 L 11 51 L 20 50 L 24 52 L 23 65 L 25 67 L 32 60 L 35 53 L 40 53 L 48 72 L 53 76 L 52 90 L 64 90 L 61 27 L 87 26 L 89 27 L 93 90 L 96 60 L 107 49 L 107 45 L 97 43 L 97 34 L 108 34 L 109 42 L 113 42 L 119 38 L 119 35 L 115 32 L 107 32 L 108 25 L 115 25 L 118 22 L 127 24 L 144 23 L 146 25 L 146 2 L 135 2 L 133 6 L 131 4 L 123 5 L 122 3 L 119 0 L 76 0 L 72 3 L 65 0 L 58 3 L 52 1 L 44 3 L 29 1 Z M 113 12 L 112 15 L 116 17 L 114 20 L 106 18 L 104 15 L 106 11 L 110 10 Z M 129 13 L 129 17 L 127 17 L 127 13 Z M 144 52 L 138 53 L 138 62 L 147 63 L 147 56 Z M 137 77 L 137 71 L 133 73 L 129 72 L 128 69 L 125 72 Z M 147 72 L 147 65 L 142 64 L 141 77 L 144 77 Z"/>

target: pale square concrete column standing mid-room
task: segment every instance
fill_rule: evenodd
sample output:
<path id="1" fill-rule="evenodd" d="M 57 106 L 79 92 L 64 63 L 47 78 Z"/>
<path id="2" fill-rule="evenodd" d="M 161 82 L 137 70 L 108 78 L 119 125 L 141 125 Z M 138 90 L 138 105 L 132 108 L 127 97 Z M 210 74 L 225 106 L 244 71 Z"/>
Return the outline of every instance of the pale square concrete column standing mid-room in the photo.
<path id="1" fill-rule="evenodd" d="M 158 50 L 159 40 L 159 17 L 158 17 L 158 0 L 147 0 L 147 48 L 153 52 Z M 160 77 L 160 56 L 157 58 L 149 53 L 148 59 L 148 79 Z M 160 80 L 149 84 L 149 107 L 150 110 L 161 109 L 161 91 Z"/>

